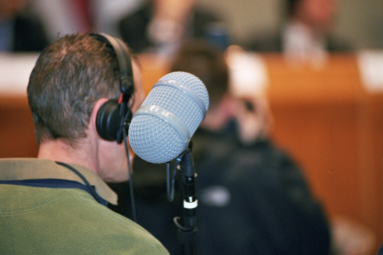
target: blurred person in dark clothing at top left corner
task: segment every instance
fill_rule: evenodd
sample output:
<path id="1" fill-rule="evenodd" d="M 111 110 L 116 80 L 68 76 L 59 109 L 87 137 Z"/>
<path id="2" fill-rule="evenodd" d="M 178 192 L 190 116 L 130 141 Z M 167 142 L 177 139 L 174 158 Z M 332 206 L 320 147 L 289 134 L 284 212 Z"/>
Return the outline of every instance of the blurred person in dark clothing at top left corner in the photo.
<path id="1" fill-rule="evenodd" d="M 44 28 L 25 11 L 28 0 L 0 0 L 0 51 L 40 51 L 47 45 Z"/>

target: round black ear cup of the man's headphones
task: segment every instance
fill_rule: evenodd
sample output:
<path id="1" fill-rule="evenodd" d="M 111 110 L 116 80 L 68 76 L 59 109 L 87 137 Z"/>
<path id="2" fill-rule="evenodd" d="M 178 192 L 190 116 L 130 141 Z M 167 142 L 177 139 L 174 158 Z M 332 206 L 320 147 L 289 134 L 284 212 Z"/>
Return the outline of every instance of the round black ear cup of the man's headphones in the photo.
<path id="1" fill-rule="evenodd" d="M 120 104 L 111 99 L 104 103 L 97 112 L 96 128 L 101 138 L 114 141 L 120 128 Z"/>

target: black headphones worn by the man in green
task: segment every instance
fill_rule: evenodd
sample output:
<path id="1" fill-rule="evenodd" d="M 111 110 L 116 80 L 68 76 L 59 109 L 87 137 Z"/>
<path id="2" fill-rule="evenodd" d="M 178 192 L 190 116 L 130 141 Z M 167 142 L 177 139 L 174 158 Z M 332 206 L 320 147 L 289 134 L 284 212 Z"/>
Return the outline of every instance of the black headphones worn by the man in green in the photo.
<path id="1" fill-rule="evenodd" d="M 106 42 L 106 49 L 117 56 L 121 96 L 104 103 L 97 112 L 96 128 L 101 138 L 121 143 L 123 133 L 127 133 L 132 119 L 129 100 L 134 93 L 133 69 L 128 46 L 119 38 L 104 34 L 91 33 L 97 40 Z M 124 130 L 125 129 L 125 130 Z"/>

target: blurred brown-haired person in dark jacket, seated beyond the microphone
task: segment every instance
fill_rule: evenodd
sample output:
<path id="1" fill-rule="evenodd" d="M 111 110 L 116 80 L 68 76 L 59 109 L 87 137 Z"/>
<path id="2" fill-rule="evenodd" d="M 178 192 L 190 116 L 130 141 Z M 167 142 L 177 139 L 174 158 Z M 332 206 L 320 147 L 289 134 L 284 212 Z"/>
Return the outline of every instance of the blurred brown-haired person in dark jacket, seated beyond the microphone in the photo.
<path id="1" fill-rule="evenodd" d="M 199 201 L 196 254 L 328 254 L 326 215 L 296 164 L 270 141 L 266 99 L 233 96 L 224 54 L 206 42 L 186 43 L 172 70 L 195 74 L 210 98 L 192 137 Z M 143 192 L 137 192 L 138 221 L 171 254 L 180 254 L 173 224 L 180 212 L 178 203 L 169 206 L 166 198 L 165 165 L 140 158 L 134 164 L 140 169 L 134 174 L 136 188 Z M 123 208 L 121 203 L 115 210 L 126 214 Z"/>

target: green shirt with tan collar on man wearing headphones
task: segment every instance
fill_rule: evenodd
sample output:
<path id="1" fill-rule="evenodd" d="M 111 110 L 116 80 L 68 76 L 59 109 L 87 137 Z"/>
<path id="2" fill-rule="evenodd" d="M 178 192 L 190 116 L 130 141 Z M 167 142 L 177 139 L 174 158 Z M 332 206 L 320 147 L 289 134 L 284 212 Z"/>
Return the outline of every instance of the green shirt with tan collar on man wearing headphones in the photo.
<path id="1" fill-rule="evenodd" d="M 110 203 L 116 194 L 94 172 L 75 167 Z M 45 159 L 0 159 L 0 180 L 82 180 Z M 169 255 L 133 221 L 99 204 L 77 188 L 0 184 L 0 254 Z"/>

